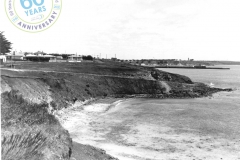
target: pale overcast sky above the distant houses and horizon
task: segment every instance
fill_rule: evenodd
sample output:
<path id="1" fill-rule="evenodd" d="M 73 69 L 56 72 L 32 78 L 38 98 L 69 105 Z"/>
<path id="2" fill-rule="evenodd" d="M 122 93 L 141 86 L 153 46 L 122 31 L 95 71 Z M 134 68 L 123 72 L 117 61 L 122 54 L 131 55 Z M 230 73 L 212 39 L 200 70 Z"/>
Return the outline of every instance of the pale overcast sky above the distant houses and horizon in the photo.
<path id="1" fill-rule="evenodd" d="M 0 4 L 13 50 L 116 57 L 240 61 L 239 0 L 62 0 L 40 33 L 17 29 Z"/>

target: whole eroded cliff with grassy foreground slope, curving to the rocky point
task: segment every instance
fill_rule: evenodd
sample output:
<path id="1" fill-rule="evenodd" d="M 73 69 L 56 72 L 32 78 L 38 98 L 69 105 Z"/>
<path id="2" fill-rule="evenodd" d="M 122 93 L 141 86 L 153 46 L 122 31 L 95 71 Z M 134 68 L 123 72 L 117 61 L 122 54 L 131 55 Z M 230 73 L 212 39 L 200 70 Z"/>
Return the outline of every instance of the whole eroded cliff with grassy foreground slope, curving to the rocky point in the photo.
<path id="1" fill-rule="evenodd" d="M 2 147 L 6 148 L 3 159 L 11 159 L 9 153 L 21 150 L 19 143 L 24 143 L 25 149 L 28 148 L 31 152 L 17 152 L 18 158 L 69 159 L 72 152 L 71 139 L 53 115 L 56 110 L 70 107 L 76 102 L 109 96 L 194 98 L 222 90 L 193 83 L 188 77 L 181 75 L 148 68 L 142 72 L 138 71 L 136 76 L 124 73 L 120 76 L 2 71 L 2 137 L 5 139 Z M 29 133 L 25 134 L 26 132 Z M 33 142 L 32 137 L 36 135 L 39 141 Z M 29 149 L 32 145 L 28 143 L 39 143 L 37 150 Z M 14 150 L 11 150 L 12 145 Z M 37 156 L 31 158 L 29 155 L 35 152 Z"/>

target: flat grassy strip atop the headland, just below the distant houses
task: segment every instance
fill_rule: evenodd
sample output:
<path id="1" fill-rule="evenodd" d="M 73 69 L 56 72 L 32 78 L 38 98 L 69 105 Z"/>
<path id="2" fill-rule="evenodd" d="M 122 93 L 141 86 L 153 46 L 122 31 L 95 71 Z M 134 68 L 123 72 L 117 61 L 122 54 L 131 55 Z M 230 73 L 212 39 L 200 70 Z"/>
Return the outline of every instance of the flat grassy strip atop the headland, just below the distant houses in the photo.
<path id="1" fill-rule="evenodd" d="M 104 62 L 104 63 L 48 63 L 48 62 L 19 62 L 15 66 L 15 69 L 30 69 L 41 71 L 58 71 L 58 72 L 74 72 L 74 73 L 87 73 L 87 74 L 99 74 L 99 75 L 136 75 L 137 72 L 143 73 L 143 67 L 132 66 L 129 64 L 118 62 Z M 145 72 L 147 73 L 147 72 Z"/>

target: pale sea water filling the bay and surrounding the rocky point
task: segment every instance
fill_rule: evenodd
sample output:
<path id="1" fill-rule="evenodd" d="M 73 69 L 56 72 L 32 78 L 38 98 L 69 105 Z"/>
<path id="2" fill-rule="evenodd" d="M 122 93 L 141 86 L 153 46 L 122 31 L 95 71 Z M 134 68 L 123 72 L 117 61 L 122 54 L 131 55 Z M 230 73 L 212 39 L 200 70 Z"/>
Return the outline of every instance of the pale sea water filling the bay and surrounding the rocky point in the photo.
<path id="1" fill-rule="evenodd" d="M 127 99 L 77 107 L 62 125 L 74 141 L 120 160 L 240 159 L 240 66 L 230 70 L 161 69 L 215 87 L 196 99 Z"/>

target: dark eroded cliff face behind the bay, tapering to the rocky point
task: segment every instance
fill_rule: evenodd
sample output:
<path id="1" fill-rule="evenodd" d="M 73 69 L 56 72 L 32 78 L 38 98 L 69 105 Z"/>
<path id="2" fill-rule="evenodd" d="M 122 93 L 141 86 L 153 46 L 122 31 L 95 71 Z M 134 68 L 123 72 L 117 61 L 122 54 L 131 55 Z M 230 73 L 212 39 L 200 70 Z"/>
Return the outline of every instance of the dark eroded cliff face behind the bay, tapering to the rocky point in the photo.
<path id="1" fill-rule="evenodd" d="M 190 78 L 151 70 L 152 79 L 56 72 L 8 72 L 1 76 L 1 92 L 16 91 L 29 103 L 46 102 L 53 110 L 76 101 L 104 97 L 195 98 L 222 89 L 193 83 Z"/>

